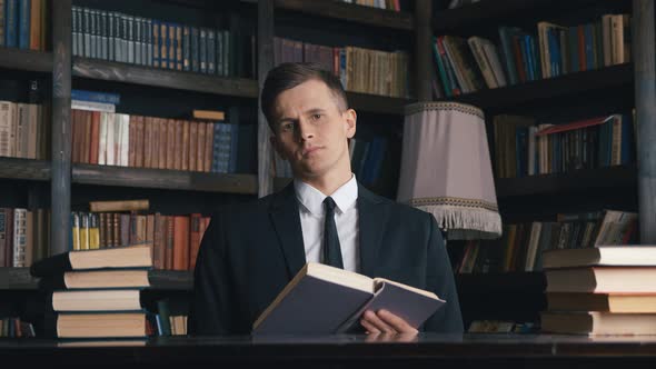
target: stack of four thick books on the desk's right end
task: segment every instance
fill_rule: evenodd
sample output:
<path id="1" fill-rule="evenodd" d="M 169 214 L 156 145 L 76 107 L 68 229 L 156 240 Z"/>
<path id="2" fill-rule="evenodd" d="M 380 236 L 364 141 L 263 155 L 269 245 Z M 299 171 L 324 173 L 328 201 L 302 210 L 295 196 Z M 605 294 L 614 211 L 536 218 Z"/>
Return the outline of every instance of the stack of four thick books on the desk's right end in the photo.
<path id="1" fill-rule="evenodd" d="M 543 261 L 547 281 L 543 331 L 656 333 L 656 247 L 548 250 Z"/>

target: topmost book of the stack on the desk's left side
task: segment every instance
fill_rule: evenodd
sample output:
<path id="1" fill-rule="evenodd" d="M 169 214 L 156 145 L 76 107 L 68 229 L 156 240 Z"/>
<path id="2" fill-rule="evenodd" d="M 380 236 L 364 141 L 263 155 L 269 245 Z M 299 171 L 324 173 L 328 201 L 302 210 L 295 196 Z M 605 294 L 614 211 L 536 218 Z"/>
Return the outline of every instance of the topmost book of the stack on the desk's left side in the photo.
<path id="1" fill-rule="evenodd" d="M 46 277 L 69 270 L 102 268 L 151 268 L 152 245 L 68 251 L 34 262 L 30 273 Z"/>

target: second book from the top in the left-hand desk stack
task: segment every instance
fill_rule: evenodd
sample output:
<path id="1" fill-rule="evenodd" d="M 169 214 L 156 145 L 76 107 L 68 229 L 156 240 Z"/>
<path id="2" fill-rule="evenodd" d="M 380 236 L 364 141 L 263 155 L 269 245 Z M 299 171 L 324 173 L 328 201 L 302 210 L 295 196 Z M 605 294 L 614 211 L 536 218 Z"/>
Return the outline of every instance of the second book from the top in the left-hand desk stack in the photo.
<path id="1" fill-rule="evenodd" d="M 39 280 L 43 290 L 150 287 L 148 269 L 64 271 Z"/>

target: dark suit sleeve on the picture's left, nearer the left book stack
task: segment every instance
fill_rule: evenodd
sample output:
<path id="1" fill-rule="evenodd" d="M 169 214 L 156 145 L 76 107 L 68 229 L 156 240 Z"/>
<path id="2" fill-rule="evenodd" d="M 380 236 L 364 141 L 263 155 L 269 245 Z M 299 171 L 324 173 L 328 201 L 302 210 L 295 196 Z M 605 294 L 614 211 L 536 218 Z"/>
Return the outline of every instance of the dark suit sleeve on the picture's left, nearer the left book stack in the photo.
<path id="1" fill-rule="evenodd" d="M 189 333 L 196 336 L 229 335 L 231 321 L 230 285 L 226 241 L 221 217 L 215 215 L 203 235 L 196 269 L 193 297 L 189 313 Z"/>

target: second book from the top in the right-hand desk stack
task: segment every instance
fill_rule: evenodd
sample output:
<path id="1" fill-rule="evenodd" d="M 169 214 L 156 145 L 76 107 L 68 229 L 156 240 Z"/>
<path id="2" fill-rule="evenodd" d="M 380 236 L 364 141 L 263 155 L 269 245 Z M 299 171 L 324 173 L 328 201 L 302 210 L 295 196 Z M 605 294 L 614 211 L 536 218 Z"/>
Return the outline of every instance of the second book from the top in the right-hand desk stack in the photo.
<path id="1" fill-rule="evenodd" d="M 585 267 L 545 270 L 547 292 L 656 292 L 656 267 Z"/>

